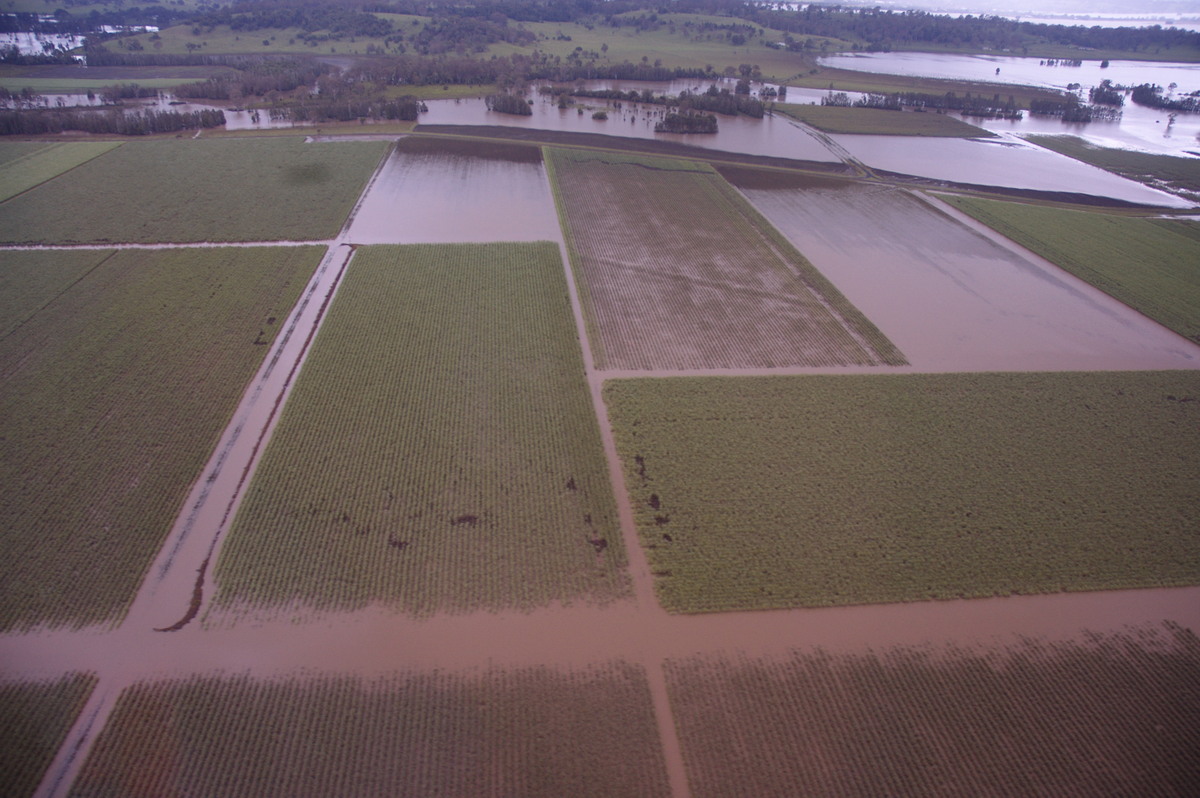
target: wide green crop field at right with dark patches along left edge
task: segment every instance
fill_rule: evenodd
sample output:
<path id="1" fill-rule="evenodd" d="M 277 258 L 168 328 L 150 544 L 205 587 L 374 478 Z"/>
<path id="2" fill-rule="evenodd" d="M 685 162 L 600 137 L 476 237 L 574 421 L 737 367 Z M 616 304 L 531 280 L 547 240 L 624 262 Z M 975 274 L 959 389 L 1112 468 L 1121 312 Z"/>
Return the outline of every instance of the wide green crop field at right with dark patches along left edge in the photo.
<path id="1" fill-rule="evenodd" d="M 1200 582 L 1200 372 L 610 380 L 671 612 Z"/>

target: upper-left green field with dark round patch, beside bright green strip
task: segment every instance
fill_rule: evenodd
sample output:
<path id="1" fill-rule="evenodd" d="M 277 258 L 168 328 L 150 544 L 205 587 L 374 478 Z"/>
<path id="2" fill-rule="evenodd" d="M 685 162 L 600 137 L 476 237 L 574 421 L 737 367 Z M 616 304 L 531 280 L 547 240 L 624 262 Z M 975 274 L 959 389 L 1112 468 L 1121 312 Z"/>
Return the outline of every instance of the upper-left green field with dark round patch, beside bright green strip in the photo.
<path id="1" fill-rule="evenodd" d="M 0 241 L 319 240 L 337 234 L 386 142 L 126 142 L 0 205 Z"/>

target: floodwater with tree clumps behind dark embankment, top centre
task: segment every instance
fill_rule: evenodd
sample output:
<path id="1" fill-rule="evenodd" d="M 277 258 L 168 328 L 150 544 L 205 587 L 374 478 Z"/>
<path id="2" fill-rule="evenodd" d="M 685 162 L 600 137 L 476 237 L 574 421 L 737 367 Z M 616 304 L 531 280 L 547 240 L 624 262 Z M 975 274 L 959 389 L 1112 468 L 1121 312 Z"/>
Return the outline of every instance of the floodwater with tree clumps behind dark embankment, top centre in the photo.
<path id="1" fill-rule="evenodd" d="M 594 82 L 598 89 L 614 85 L 612 82 Z M 653 89 L 667 84 L 625 84 L 628 88 Z M 674 84 L 670 84 L 674 85 Z M 695 83 L 686 84 L 696 88 Z M 704 84 L 707 85 L 707 84 Z M 593 86 L 592 83 L 588 84 Z M 676 91 L 677 89 L 672 89 Z M 800 161 L 836 162 L 832 154 L 805 128 L 781 116 L 750 119 L 749 116 L 718 116 L 716 133 L 655 133 L 655 122 L 662 119 L 661 106 L 644 106 L 630 102 L 614 103 L 602 100 L 582 100 L 581 108 L 559 108 L 552 100 L 534 95 L 532 116 L 516 116 L 487 110 L 482 100 L 433 100 L 426 103 L 430 110 L 421 114 L 422 125 L 503 125 L 532 130 L 564 131 L 571 133 L 599 133 L 625 138 L 674 142 L 722 152 L 749 152 Z M 586 108 L 583 108 L 586 106 Z M 592 109 L 604 108 L 607 120 L 592 119 Z M 580 113 L 580 112 L 583 113 Z"/>

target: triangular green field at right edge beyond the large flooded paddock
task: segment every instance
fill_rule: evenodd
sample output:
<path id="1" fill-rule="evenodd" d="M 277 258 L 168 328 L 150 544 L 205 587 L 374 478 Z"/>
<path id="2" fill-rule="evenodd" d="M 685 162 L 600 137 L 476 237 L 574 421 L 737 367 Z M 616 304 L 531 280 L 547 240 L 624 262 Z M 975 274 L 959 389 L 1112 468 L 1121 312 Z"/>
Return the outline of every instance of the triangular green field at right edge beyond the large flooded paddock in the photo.
<path id="1" fill-rule="evenodd" d="M 996 232 L 1180 335 L 1200 342 L 1194 223 L 946 197 Z"/>

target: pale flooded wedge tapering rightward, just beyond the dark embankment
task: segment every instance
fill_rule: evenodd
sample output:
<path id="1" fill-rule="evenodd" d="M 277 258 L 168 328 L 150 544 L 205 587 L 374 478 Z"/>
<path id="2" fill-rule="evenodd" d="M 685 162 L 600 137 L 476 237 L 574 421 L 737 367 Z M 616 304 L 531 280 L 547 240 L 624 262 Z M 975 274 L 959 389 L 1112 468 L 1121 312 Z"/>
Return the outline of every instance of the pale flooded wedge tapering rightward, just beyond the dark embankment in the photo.
<path id="1" fill-rule="evenodd" d="M 924 138 L 833 136 L 869 167 L 932 180 L 1037 191 L 1067 191 L 1144 205 L 1192 208 L 1193 203 L 1034 146 L 1016 137 Z"/>

